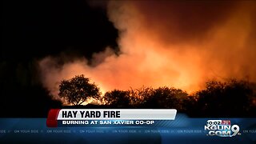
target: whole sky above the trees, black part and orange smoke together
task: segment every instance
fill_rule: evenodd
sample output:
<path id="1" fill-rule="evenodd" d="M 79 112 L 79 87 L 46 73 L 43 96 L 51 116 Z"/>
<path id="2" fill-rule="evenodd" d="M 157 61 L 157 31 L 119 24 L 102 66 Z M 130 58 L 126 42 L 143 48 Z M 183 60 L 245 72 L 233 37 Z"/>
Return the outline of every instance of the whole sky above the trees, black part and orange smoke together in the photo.
<path id="1" fill-rule="evenodd" d="M 256 82 L 255 1 L 5 0 L 2 8 L 2 117 L 46 116 L 62 104 L 59 82 L 78 74 L 102 92 Z"/>

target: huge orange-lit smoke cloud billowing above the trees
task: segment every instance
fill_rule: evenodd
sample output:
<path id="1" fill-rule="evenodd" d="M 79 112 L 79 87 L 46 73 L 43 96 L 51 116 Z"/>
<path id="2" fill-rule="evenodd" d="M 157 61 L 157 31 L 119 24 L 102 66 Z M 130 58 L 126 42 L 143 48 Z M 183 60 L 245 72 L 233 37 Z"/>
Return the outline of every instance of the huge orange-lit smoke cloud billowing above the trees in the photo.
<path id="1" fill-rule="evenodd" d="M 119 54 L 106 48 L 58 64 L 42 59 L 42 83 L 58 98 L 62 79 L 85 74 L 102 91 L 174 86 L 193 92 L 225 78 L 256 82 L 256 2 L 110 1 Z"/>

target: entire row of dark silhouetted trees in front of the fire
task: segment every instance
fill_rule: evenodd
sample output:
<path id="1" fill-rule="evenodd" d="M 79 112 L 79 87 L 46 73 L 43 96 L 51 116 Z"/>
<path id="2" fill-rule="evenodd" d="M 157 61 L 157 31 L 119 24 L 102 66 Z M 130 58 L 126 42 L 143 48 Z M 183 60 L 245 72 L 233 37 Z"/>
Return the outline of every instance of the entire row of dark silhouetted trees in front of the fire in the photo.
<path id="1" fill-rule="evenodd" d="M 247 81 L 206 82 L 206 88 L 194 94 L 174 87 L 112 90 L 100 95 L 99 88 L 83 75 L 62 81 L 59 95 L 79 105 L 94 98 L 109 108 L 168 108 L 192 117 L 256 116 L 256 84 Z"/>

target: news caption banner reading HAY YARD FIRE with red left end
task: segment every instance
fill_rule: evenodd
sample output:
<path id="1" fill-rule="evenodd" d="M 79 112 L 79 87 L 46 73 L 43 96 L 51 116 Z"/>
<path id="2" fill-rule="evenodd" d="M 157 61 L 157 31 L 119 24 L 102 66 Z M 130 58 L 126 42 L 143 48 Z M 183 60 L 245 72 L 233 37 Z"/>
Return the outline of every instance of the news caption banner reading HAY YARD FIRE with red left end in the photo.
<path id="1" fill-rule="evenodd" d="M 173 121 L 175 109 L 53 109 L 46 119 L 48 127 L 161 126 Z"/>

